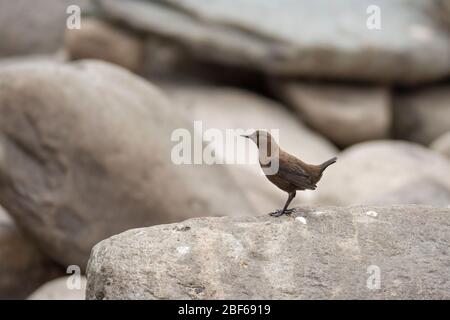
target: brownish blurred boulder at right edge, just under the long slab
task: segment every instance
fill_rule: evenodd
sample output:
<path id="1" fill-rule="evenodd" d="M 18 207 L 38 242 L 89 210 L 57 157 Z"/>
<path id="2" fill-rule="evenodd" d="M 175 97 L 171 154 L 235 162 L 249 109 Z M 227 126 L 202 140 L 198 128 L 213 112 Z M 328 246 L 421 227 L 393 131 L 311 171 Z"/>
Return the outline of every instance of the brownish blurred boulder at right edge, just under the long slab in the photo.
<path id="1" fill-rule="evenodd" d="M 450 86 L 399 93 L 393 110 L 395 136 L 428 145 L 450 130 Z"/>

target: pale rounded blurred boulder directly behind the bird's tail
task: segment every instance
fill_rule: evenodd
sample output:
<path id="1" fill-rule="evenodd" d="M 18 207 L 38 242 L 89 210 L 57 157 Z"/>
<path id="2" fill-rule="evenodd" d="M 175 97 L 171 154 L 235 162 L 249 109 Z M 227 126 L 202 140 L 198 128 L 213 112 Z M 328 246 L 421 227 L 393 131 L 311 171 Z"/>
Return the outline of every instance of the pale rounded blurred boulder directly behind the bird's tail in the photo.
<path id="1" fill-rule="evenodd" d="M 333 169 L 314 193 L 317 203 L 450 205 L 450 162 L 414 143 L 360 143 L 344 150 Z"/>

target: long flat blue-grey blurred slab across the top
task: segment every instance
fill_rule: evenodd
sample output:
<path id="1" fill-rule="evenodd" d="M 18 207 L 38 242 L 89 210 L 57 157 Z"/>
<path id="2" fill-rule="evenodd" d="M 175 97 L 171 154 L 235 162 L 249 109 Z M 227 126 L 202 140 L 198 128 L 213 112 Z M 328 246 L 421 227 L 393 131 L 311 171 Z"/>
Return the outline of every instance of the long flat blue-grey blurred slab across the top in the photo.
<path id="1" fill-rule="evenodd" d="M 98 3 L 106 17 L 171 39 L 201 59 L 272 74 L 415 83 L 450 71 L 448 31 L 430 14 L 435 1 Z M 367 27 L 374 6 L 379 29 Z"/>

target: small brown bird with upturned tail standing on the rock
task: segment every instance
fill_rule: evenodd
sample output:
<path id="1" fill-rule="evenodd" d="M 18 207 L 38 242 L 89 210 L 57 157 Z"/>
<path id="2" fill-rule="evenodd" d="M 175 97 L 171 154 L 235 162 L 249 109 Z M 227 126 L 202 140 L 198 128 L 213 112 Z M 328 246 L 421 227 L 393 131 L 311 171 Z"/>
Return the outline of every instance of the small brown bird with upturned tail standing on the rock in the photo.
<path id="1" fill-rule="evenodd" d="M 288 209 L 288 206 L 297 190 L 315 190 L 323 171 L 337 160 L 333 157 L 319 165 L 307 164 L 283 151 L 270 133 L 263 130 L 256 130 L 243 137 L 252 140 L 258 147 L 259 163 L 267 179 L 289 194 L 283 209 L 270 214 L 274 217 L 292 213 L 293 209 Z"/>

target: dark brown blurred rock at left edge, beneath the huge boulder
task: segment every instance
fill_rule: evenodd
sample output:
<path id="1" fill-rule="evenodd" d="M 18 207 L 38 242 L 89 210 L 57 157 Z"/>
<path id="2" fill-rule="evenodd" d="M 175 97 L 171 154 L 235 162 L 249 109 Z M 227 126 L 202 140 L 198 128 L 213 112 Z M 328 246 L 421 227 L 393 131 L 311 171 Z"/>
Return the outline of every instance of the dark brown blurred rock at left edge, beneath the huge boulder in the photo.
<path id="1" fill-rule="evenodd" d="M 0 207 L 0 299 L 24 299 L 62 273 Z"/>

